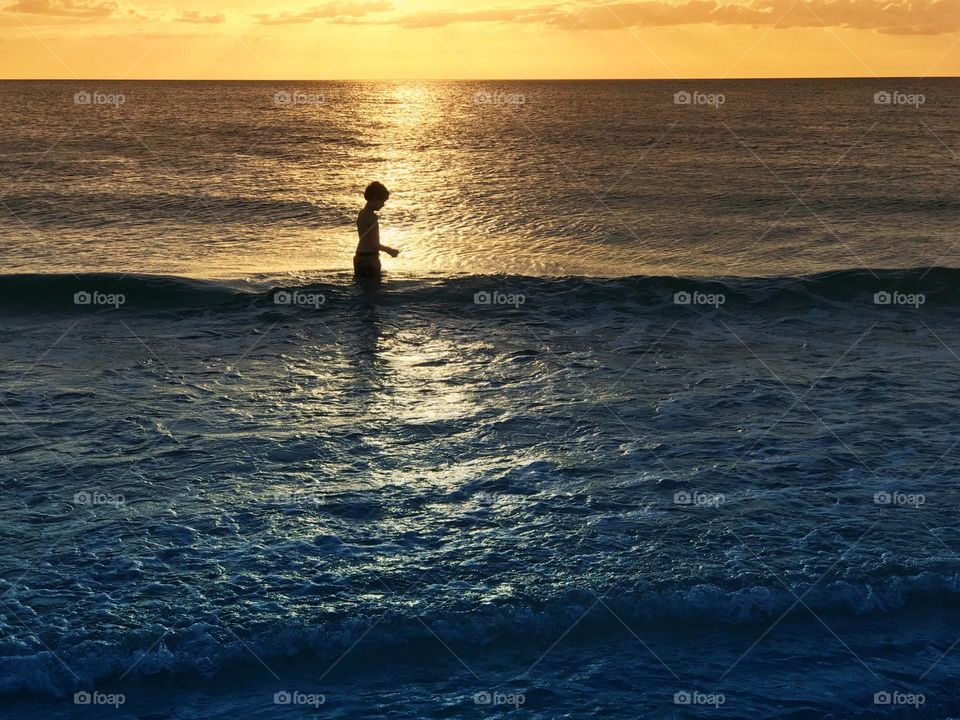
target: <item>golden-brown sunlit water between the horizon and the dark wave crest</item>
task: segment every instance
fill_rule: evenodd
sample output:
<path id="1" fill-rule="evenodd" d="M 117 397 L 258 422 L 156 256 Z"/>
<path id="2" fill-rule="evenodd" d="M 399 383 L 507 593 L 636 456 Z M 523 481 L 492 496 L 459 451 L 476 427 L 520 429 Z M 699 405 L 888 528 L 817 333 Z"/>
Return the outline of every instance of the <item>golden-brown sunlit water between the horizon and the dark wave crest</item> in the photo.
<path id="1" fill-rule="evenodd" d="M 674 104 L 671 82 L 129 82 L 109 116 L 74 107 L 71 83 L 4 84 L 0 152 L 20 179 L 0 259 L 8 272 L 349 271 L 361 193 L 379 179 L 393 191 L 383 237 L 402 250 L 384 267 L 402 275 L 951 264 L 952 160 L 878 108 L 871 82 L 722 82 L 720 110 Z M 956 81 L 923 83 L 938 99 L 924 124 L 949 139 Z M 279 90 L 323 102 L 277 105 Z"/>

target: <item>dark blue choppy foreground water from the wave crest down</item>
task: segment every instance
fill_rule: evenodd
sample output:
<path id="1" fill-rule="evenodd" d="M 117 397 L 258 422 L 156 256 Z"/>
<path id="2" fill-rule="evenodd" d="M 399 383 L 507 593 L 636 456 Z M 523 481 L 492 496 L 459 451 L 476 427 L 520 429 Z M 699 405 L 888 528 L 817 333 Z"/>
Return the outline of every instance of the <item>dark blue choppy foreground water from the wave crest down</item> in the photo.
<path id="1" fill-rule="evenodd" d="M 11 716 L 952 712 L 956 271 L 876 275 L 6 277 Z"/>

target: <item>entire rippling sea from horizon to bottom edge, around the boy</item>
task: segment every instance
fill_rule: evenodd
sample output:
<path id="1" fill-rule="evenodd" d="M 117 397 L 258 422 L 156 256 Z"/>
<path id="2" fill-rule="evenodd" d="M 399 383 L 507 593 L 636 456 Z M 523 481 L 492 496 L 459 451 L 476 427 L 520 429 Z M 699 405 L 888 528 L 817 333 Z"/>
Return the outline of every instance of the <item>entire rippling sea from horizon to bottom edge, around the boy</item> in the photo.
<path id="1" fill-rule="evenodd" d="M 0 83 L 2 716 L 960 716 L 958 106 Z"/>

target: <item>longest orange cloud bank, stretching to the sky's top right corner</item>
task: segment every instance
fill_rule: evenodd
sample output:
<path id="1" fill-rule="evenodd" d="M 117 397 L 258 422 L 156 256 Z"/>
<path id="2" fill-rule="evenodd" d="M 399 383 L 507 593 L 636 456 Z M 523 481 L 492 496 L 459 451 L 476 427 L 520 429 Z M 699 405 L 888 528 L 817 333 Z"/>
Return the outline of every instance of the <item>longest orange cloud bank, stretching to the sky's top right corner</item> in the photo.
<path id="1" fill-rule="evenodd" d="M 889 35 L 928 35 L 960 29 L 955 0 L 662 0 L 545 5 L 538 8 L 432 11 L 390 21 L 405 28 L 469 22 L 542 23 L 569 30 L 620 30 L 670 25 L 836 27 Z"/>

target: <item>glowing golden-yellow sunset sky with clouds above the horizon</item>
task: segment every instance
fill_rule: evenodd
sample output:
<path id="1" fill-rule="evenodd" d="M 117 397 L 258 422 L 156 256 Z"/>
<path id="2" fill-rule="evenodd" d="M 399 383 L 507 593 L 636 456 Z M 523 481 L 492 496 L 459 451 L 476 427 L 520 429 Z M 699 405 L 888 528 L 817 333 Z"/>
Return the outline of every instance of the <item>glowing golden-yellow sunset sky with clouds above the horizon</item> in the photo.
<path id="1" fill-rule="evenodd" d="M 0 0 L 0 77 L 960 75 L 960 0 Z"/>

